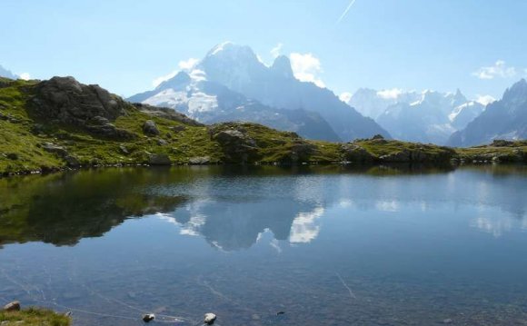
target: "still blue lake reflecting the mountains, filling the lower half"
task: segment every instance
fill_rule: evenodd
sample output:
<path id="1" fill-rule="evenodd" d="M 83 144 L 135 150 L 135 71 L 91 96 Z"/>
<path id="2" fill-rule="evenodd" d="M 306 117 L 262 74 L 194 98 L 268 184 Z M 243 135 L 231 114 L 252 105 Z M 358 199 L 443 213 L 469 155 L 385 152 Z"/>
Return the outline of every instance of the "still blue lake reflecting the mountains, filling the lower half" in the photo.
<path id="1" fill-rule="evenodd" d="M 525 325 L 526 209 L 523 166 L 4 179 L 0 302 L 75 325 Z"/>

